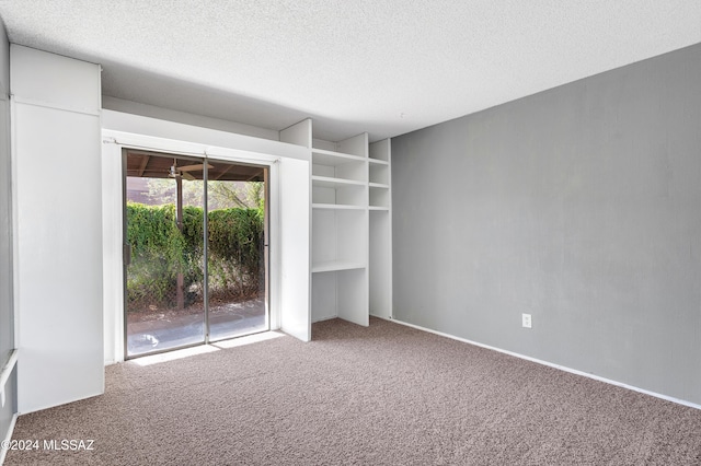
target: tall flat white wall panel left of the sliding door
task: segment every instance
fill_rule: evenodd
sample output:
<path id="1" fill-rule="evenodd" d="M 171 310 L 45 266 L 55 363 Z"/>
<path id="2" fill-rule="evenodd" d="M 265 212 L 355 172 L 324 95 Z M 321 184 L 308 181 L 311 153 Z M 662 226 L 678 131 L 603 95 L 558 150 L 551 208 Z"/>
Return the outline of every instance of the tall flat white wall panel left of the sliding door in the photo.
<path id="1" fill-rule="evenodd" d="M 100 67 L 11 46 L 21 413 L 104 388 Z"/>

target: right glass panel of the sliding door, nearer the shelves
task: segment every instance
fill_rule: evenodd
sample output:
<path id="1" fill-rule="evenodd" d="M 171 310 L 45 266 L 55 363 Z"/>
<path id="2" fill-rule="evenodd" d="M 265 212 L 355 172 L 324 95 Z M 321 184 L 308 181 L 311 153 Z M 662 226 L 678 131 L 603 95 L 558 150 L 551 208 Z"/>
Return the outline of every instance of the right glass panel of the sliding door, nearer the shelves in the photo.
<path id="1" fill-rule="evenodd" d="M 209 339 L 267 330 L 267 168 L 208 161 Z"/>

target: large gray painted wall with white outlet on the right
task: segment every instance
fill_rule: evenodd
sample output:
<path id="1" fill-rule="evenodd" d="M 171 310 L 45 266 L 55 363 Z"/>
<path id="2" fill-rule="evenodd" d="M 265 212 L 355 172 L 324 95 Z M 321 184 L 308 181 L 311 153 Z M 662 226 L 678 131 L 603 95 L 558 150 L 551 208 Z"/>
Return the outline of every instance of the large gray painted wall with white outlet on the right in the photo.
<path id="1" fill-rule="evenodd" d="M 701 404 L 701 45 L 394 138 L 392 190 L 395 319 Z"/>

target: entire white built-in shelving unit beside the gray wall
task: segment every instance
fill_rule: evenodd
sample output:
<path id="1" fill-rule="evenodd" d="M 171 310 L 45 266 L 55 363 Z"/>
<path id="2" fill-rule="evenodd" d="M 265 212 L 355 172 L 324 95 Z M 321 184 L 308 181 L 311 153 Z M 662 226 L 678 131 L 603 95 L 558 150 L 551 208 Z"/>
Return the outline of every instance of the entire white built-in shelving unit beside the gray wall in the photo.
<path id="1" fill-rule="evenodd" d="M 364 132 L 313 138 L 312 121 L 280 131 L 310 149 L 311 321 L 369 325 L 391 316 L 391 147 Z"/>

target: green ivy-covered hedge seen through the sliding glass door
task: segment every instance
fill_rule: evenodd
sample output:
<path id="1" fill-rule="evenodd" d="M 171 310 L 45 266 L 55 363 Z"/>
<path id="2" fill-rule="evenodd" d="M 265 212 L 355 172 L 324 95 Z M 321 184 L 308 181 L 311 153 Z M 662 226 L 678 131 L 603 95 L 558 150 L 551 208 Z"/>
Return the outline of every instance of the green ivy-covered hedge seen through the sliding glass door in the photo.
<path id="1" fill-rule="evenodd" d="M 208 213 L 209 293 L 214 299 L 257 294 L 262 272 L 263 207 Z M 202 299 L 204 211 L 183 207 L 182 231 L 175 206 L 127 202 L 127 308 L 172 306 L 179 273 L 186 303 Z"/>

